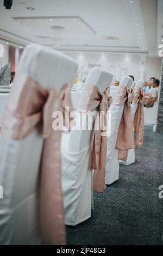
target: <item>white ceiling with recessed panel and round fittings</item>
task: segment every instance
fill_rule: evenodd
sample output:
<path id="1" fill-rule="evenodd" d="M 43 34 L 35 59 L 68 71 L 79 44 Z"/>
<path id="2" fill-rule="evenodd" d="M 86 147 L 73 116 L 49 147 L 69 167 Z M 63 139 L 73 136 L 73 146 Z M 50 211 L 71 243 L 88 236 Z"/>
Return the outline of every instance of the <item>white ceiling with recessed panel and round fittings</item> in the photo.
<path id="1" fill-rule="evenodd" d="M 60 50 L 154 55 L 163 25 L 163 1 L 158 2 L 157 31 L 156 0 L 14 0 L 11 10 L 5 10 L 0 0 L 0 38 L 20 45 L 37 42 Z M 64 29 L 56 31 L 52 26 Z"/>

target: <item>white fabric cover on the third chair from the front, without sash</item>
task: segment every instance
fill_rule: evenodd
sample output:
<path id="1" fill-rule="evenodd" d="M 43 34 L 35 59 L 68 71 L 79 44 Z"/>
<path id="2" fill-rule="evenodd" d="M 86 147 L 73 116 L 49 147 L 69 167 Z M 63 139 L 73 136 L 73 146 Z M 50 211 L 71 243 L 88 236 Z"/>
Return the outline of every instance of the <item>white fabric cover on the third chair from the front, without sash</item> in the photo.
<path id="1" fill-rule="evenodd" d="M 131 77 L 124 77 L 122 80 L 123 86 L 128 89 L 131 88 L 133 79 Z M 118 91 L 117 91 L 118 92 Z M 114 102 L 115 103 L 115 102 Z M 108 124 L 108 139 L 107 139 L 107 158 L 106 158 L 106 184 L 118 180 L 119 178 L 119 161 L 118 161 L 118 149 L 115 148 L 117 141 L 117 133 L 120 126 L 124 103 L 121 106 L 115 106 L 114 103 L 109 109 L 109 124 Z"/>

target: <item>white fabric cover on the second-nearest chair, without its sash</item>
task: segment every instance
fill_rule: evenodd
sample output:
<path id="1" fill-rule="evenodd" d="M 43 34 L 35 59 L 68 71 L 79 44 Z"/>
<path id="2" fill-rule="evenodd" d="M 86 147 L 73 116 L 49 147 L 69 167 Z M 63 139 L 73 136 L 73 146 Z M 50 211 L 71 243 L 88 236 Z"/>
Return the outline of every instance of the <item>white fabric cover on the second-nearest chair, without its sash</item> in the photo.
<path id="1" fill-rule="evenodd" d="M 101 92 L 111 84 L 113 75 L 100 68 L 93 68 L 86 80 Z M 80 120 L 80 113 L 76 122 Z M 85 120 L 86 121 L 86 120 Z M 84 124 L 84 123 L 83 123 Z M 62 134 L 68 136 L 67 134 Z M 93 131 L 72 130 L 67 146 L 62 146 L 62 189 L 64 191 L 65 221 L 77 225 L 91 217 L 92 172 L 89 170 Z M 64 142 L 64 138 L 62 139 Z"/>

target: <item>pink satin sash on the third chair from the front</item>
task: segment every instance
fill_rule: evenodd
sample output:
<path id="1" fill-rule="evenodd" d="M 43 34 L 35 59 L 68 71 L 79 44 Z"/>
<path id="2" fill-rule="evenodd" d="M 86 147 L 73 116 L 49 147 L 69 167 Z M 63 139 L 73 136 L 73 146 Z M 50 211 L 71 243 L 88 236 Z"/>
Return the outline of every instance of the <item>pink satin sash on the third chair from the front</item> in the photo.
<path id="1" fill-rule="evenodd" d="M 119 86 L 114 105 L 121 106 L 124 103 L 124 110 L 116 142 L 116 149 L 119 149 L 118 160 L 126 161 L 128 149 L 135 148 L 133 124 L 131 120 L 131 102 L 133 98 L 133 90 L 129 91 L 125 86 Z"/>

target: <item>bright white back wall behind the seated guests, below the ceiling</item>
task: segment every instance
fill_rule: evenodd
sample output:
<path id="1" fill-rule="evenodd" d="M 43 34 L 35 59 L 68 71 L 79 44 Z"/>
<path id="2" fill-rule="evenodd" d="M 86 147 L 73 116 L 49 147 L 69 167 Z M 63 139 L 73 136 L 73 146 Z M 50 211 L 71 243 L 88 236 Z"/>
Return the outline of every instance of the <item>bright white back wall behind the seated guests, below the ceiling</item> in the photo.
<path id="1" fill-rule="evenodd" d="M 65 54 L 72 57 L 75 60 L 79 60 L 81 57 L 92 64 L 101 64 L 101 68 L 104 68 L 115 75 L 116 80 L 121 80 L 123 76 L 133 75 L 135 80 L 144 78 L 149 80 L 151 77 L 160 78 L 161 58 L 149 58 L 140 54 L 130 53 L 100 53 L 100 52 L 70 52 L 65 51 Z M 143 62 L 145 72 L 141 77 L 142 59 L 146 59 Z"/>

